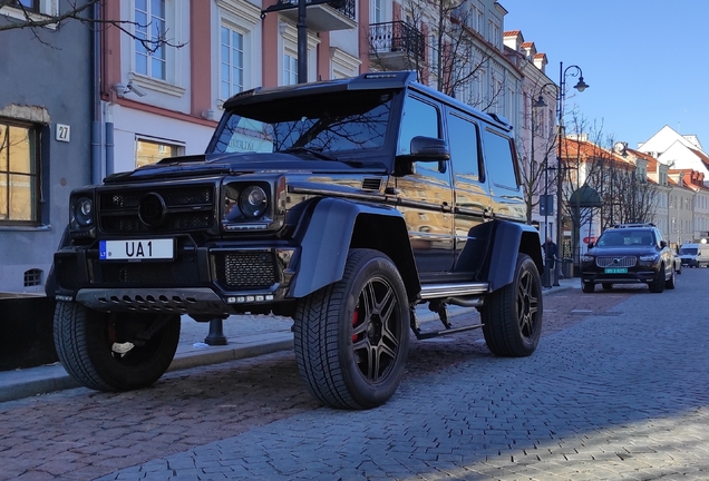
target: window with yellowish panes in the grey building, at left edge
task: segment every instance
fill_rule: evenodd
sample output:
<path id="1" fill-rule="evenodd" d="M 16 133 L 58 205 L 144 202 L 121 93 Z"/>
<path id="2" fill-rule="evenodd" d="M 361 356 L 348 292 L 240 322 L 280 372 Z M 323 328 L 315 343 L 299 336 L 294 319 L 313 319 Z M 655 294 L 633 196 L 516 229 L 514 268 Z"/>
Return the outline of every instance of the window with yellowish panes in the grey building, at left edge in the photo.
<path id="1" fill-rule="evenodd" d="M 0 119 L 0 223 L 39 223 L 38 129 Z"/>

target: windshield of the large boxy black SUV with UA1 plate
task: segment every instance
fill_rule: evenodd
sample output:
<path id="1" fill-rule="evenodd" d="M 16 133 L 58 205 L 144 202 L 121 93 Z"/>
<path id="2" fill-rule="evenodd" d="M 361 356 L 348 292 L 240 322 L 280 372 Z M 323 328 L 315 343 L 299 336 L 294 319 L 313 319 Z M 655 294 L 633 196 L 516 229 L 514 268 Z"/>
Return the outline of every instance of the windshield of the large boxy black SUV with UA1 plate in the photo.
<path id="1" fill-rule="evenodd" d="M 333 153 L 382 147 L 391 92 L 341 91 L 236 106 L 214 153 Z M 322 157 L 328 158 L 328 157 Z"/>

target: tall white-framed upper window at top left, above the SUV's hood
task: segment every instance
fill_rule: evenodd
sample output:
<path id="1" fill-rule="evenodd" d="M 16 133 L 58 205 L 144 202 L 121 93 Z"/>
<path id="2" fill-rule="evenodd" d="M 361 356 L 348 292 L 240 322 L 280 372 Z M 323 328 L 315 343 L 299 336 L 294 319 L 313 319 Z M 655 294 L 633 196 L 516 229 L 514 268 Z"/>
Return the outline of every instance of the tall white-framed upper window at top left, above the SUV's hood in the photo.
<path id="1" fill-rule="evenodd" d="M 165 0 L 135 0 L 135 71 L 166 80 Z"/>

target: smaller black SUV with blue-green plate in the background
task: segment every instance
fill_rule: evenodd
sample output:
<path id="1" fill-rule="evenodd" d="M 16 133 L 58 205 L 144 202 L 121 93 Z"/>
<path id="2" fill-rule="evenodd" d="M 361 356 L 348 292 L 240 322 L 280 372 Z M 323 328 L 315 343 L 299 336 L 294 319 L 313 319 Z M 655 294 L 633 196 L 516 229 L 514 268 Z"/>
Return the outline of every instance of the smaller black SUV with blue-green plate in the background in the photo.
<path id="1" fill-rule="evenodd" d="M 581 256 L 581 287 L 592 293 L 596 284 L 610 291 L 613 284 L 645 283 L 650 292 L 673 289 L 674 254 L 652 224 L 621 224 L 603 232 Z"/>

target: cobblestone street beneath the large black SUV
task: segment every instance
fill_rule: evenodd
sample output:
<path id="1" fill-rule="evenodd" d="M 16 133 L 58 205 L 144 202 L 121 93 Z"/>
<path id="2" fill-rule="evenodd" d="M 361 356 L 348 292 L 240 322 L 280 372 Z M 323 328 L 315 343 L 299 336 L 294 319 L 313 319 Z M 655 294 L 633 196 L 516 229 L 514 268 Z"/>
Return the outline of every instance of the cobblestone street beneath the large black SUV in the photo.
<path id="1" fill-rule="evenodd" d="M 708 274 L 548 295 L 526 359 L 478 331 L 414 342 L 372 411 L 320 408 L 290 352 L 2 403 L 0 479 L 706 479 Z"/>

